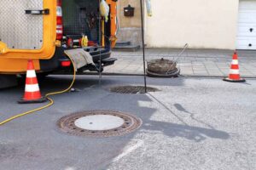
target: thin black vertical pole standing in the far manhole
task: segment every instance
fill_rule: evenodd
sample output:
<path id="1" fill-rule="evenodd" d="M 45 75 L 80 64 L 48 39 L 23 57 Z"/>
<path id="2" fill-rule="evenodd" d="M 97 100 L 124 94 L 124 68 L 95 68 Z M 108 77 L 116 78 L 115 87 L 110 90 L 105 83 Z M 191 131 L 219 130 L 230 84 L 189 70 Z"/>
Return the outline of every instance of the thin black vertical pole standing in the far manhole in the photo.
<path id="1" fill-rule="evenodd" d="M 143 69 L 144 69 L 144 88 L 145 94 L 148 93 L 147 90 L 147 77 L 146 77 L 146 59 L 145 59 L 145 40 L 144 40 L 144 20 L 143 20 L 143 0 L 141 0 L 141 20 L 142 20 L 142 38 L 143 38 Z"/>

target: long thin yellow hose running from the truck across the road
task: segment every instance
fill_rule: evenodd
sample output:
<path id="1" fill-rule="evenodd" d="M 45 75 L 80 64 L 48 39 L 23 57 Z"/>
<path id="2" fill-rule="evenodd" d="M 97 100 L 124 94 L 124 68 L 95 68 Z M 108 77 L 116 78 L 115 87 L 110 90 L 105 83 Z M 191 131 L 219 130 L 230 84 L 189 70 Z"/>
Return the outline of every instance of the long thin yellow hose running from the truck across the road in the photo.
<path id="1" fill-rule="evenodd" d="M 71 57 L 68 56 L 68 55 L 67 55 L 67 57 L 71 60 L 72 65 L 73 65 L 73 81 L 72 81 L 72 83 L 69 85 L 69 87 L 68 87 L 67 89 L 65 89 L 65 90 L 60 91 L 60 92 L 54 92 L 54 93 L 46 94 L 45 97 L 46 97 L 46 99 L 49 100 L 49 104 L 48 104 L 48 105 L 44 105 L 43 107 L 39 107 L 38 109 L 34 109 L 34 110 L 32 110 L 32 111 L 26 111 L 26 112 L 24 112 L 24 113 L 20 113 L 19 115 L 12 116 L 12 117 L 10 117 L 9 119 L 6 119 L 6 120 L 3 121 L 3 122 L 0 122 L 0 126 L 2 126 L 3 124 L 5 124 L 5 123 L 7 123 L 7 122 L 11 122 L 11 121 L 13 121 L 13 120 L 16 119 L 16 118 L 19 118 L 20 116 L 26 116 L 26 115 L 31 114 L 31 113 L 36 112 L 36 111 L 42 111 L 42 110 L 48 108 L 49 106 L 54 105 L 54 100 L 53 100 L 53 99 L 50 99 L 49 96 L 55 95 L 55 94 L 64 94 L 64 93 L 68 92 L 68 91 L 73 87 L 73 83 L 74 83 L 75 80 L 76 80 L 76 69 L 75 69 L 75 65 L 74 65 L 73 60 L 71 59 Z"/>

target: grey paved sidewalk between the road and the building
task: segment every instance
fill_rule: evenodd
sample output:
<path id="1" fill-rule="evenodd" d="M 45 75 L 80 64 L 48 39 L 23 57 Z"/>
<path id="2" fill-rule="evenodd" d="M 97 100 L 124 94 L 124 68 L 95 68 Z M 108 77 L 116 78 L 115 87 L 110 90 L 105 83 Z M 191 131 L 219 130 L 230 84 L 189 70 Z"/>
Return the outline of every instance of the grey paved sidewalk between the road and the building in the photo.
<path id="1" fill-rule="evenodd" d="M 146 49 L 146 60 L 177 60 L 183 76 L 227 77 L 233 51 L 188 49 L 177 58 L 180 49 Z M 241 77 L 256 77 L 256 51 L 238 51 Z M 106 67 L 107 74 L 143 74 L 143 53 L 113 51 L 112 57 L 118 59 L 115 65 Z"/>

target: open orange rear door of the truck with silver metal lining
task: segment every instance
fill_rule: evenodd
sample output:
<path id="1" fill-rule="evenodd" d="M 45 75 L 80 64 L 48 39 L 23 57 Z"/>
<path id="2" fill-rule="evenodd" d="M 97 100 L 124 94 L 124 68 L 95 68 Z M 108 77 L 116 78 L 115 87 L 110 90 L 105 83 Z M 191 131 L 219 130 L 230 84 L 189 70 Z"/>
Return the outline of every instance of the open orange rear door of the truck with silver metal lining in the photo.
<path id="1" fill-rule="evenodd" d="M 49 59 L 55 32 L 55 0 L 1 0 L 0 59 Z"/>

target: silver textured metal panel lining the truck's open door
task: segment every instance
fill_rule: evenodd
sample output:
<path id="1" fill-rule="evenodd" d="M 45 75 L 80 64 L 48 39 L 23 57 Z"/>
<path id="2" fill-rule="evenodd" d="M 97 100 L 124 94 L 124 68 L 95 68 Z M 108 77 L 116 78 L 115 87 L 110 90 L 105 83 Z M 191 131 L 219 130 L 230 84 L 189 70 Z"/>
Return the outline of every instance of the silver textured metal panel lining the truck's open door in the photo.
<path id="1" fill-rule="evenodd" d="M 42 0 L 0 3 L 0 39 L 8 48 L 40 49 L 43 43 L 43 15 L 25 14 L 29 9 L 43 9 Z"/>

